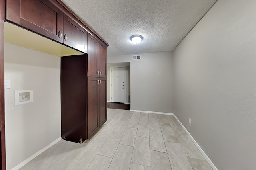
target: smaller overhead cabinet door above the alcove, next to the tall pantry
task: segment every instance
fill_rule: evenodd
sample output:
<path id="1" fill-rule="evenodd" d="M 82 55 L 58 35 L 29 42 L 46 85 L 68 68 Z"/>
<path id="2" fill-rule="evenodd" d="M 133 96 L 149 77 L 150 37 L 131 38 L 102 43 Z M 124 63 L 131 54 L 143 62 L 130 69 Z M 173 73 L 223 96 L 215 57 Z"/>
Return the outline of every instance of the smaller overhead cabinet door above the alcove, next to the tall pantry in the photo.
<path id="1" fill-rule="evenodd" d="M 64 44 L 87 53 L 87 31 L 64 14 Z"/>

